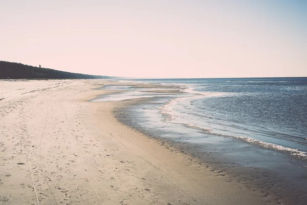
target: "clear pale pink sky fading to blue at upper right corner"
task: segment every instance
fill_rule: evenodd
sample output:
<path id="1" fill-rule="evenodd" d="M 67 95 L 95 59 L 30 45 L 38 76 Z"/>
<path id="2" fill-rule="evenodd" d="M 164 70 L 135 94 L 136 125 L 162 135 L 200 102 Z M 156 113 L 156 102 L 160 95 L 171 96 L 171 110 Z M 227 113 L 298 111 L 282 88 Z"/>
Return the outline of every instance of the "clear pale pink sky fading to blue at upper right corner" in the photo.
<path id="1" fill-rule="evenodd" d="M 123 77 L 307 76 L 304 0 L 0 1 L 0 60 Z"/>

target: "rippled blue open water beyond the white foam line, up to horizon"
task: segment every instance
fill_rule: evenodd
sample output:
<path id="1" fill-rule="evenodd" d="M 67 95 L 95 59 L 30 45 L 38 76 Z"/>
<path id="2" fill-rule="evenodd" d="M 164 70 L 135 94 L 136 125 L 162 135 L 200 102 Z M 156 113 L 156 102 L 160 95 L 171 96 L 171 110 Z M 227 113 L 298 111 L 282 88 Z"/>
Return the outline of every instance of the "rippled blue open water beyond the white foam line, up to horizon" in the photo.
<path id="1" fill-rule="evenodd" d="M 198 94 L 167 108 L 176 124 L 307 152 L 306 77 L 134 81 L 185 85 L 185 92 Z"/>

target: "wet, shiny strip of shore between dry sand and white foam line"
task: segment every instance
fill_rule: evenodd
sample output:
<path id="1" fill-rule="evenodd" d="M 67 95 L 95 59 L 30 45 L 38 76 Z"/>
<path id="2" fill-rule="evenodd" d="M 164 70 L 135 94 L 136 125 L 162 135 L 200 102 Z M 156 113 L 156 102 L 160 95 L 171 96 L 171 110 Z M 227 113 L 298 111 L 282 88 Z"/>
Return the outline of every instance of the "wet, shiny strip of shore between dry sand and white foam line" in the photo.
<path id="1" fill-rule="evenodd" d="M 165 85 L 157 85 L 155 91 L 151 90 L 150 92 L 157 93 L 158 96 L 160 86 Z M 156 92 L 156 89 L 158 89 L 158 92 Z M 165 92 L 164 90 L 164 93 L 173 94 L 172 90 L 169 91 Z M 126 93 L 128 92 L 130 91 Z M 102 97 L 101 100 L 104 101 L 106 98 L 107 100 L 119 100 L 121 98 L 120 95 L 111 96 L 114 97 Z M 200 145 L 197 142 L 194 143 L 189 138 L 194 138 L 193 134 L 198 136 L 197 132 L 193 132 L 192 135 L 189 134 L 186 138 L 181 138 L 178 137 L 179 132 L 187 134 L 183 128 L 177 127 L 176 129 L 178 130 L 173 130 L 173 128 L 167 129 L 165 127 L 171 125 L 159 122 L 163 121 L 159 115 L 164 114 L 161 107 L 163 108 L 168 104 L 161 104 L 161 101 L 165 101 L 165 99 L 157 100 L 160 97 L 153 99 L 152 96 L 150 98 L 139 98 L 139 96 L 129 94 L 126 94 L 126 96 L 137 99 L 130 99 L 131 103 L 128 103 L 129 106 L 127 108 L 119 109 L 116 112 L 117 118 L 124 125 L 133 127 L 147 137 L 157 140 L 160 145 L 165 146 L 169 150 L 176 149 L 184 154 L 188 154 L 190 156 L 188 160 L 198 163 L 202 168 L 207 168 L 207 171 L 209 170 L 212 176 L 222 177 L 223 180 L 237 183 L 240 187 L 264 193 L 266 197 L 270 195 L 278 199 L 278 203 L 304 204 L 306 200 L 303 182 L 305 163 L 297 160 L 295 156 L 277 152 L 267 147 L 261 147 L 257 144 L 251 144 L 227 135 L 210 135 L 207 146 Z M 180 98 L 177 96 L 170 101 L 177 101 Z M 166 101 L 169 102 L 169 99 L 166 99 Z M 160 110 L 160 112 L 152 110 Z M 153 120 L 150 120 L 150 118 Z M 191 126 L 188 125 L 187 127 L 190 128 Z M 196 130 L 200 130 L 200 128 L 196 128 Z M 204 137 L 204 134 L 206 135 L 207 132 L 207 130 L 204 130 L 201 137 Z M 189 140 L 189 142 L 186 142 L 186 140 Z M 214 144 L 216 145 L 212 146 Z M 250 153 L 251 150 L 254 155 Z M 226 159 L 225 154 L 229 154 L 231 158 L 227 157 Z M 248 155 L 250 158 L 246 158 Z M 255 160 L 258 161 L 256 164 Z M 298 181 L 298 179 L 302 181 Z"/>

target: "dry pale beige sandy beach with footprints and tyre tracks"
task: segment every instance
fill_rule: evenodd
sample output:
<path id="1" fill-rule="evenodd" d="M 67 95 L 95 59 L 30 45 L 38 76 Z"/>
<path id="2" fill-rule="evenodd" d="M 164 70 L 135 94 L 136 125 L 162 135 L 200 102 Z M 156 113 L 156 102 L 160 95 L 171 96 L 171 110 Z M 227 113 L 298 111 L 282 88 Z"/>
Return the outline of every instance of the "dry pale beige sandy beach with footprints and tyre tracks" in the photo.
<path id="1" fill-rule="evenodd" d="M 266 204 L 122 125 L 101 80 L 0 80 L 3 204 Z M 274 203 L 270 203 L 274 204 Z"/>

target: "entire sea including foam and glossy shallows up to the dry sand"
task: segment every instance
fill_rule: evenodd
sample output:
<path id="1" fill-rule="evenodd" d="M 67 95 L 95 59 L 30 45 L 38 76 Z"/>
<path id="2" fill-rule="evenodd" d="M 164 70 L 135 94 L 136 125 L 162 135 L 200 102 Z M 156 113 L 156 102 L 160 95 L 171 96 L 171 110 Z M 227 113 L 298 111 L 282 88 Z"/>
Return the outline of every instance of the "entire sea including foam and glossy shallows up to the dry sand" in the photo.
<path id="1" fill-rule="evenodd" d="M 129 85 L 101 89 L 123 92 L 93 101 L 146 99 L 117 112 L 124 124 L 226 181 L 280 203 L 307 204 L 307 77 L 118 81 Z M 139 83 L 181 93 L 155 93 Z"/>

